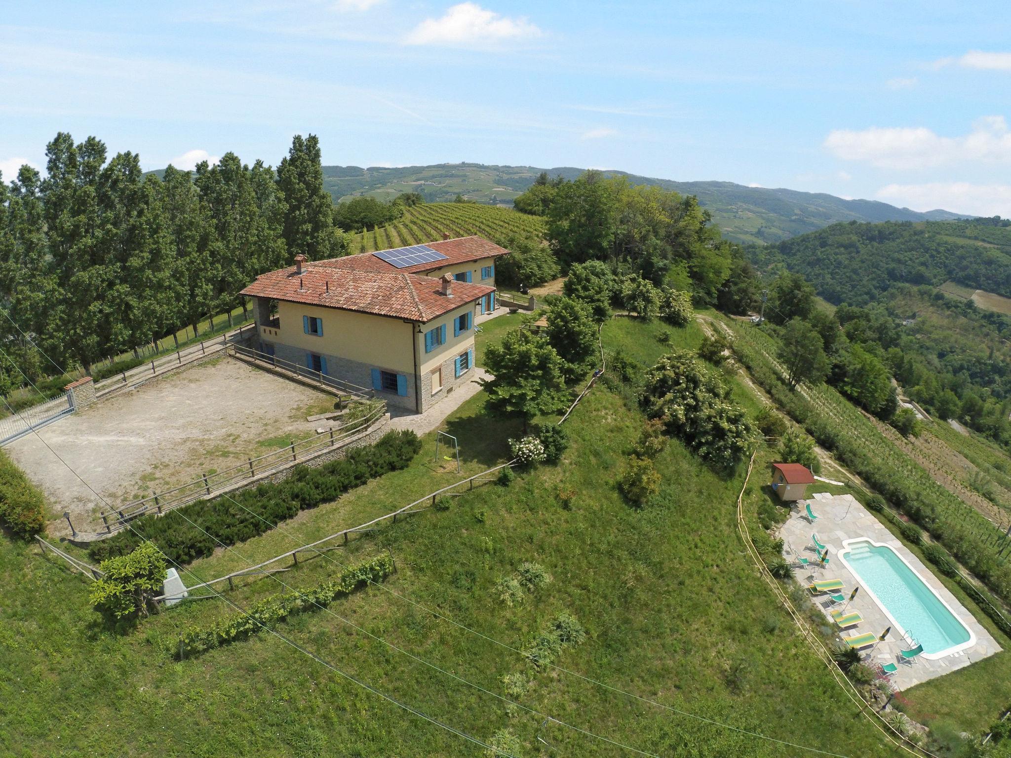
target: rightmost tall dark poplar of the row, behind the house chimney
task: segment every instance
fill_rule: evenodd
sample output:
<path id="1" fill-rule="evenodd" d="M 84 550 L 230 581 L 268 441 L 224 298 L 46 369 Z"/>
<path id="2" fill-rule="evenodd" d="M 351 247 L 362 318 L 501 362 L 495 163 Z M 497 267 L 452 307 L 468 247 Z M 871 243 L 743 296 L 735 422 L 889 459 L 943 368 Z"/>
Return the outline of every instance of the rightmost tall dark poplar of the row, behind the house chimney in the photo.
<path id="1" fill-rule="evenodd" d="M 287 158 L 277 167 L 277 186 L 284 207 L 281 236 L 288 255 L 304 255 L 310 261 L 331 258 L 337 240 L 334 200 L 324 188 L 315 134 L 295 134 Z"/>

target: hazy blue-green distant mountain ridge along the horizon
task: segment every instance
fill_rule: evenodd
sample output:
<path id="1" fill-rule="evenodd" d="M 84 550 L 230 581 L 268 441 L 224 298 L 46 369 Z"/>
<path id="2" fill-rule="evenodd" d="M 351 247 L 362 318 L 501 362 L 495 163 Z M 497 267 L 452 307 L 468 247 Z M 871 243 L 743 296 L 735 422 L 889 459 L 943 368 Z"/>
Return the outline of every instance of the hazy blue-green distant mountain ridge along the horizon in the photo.
<path id="1" fill-rule="evenodd" d="M 560 166 L 488 166 L 459 163 L 387 168 L 324 166 L 324 184 L 335 200 L 370 195 L 389 200 L 400 192 L 421 192 L 430 202 L 464 195 L 478 202 L 511 205 L 542 171 L 549 176 L 575 179 L 584 169 Z M 648 184 L 696 195 L 724 234 L 736 242 L 774 244 L 839 221 L 937 221 L 969 217 L 947 210 L 919 212 L 877 200 L 845 200 L 826 193 L 791 189 L 745 187 L 733 182 L 676 182 L 624 171 L 608 176 L 628 177 Z"/>

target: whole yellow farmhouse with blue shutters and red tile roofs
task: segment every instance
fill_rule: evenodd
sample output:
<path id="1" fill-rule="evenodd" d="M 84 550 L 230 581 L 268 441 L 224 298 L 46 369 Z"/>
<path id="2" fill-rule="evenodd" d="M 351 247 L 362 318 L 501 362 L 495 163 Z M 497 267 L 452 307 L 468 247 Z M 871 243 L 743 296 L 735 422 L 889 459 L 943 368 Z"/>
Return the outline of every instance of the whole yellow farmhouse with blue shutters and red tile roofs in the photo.
<path id="1" fill-rule="evenodd" d="M 309 262 L 261 274 L 258 349 L 371 387 L 424 412 L 468 381 L 474 317 L 495 307 L 494 262 L 508 251 L 479 236 Z"/>

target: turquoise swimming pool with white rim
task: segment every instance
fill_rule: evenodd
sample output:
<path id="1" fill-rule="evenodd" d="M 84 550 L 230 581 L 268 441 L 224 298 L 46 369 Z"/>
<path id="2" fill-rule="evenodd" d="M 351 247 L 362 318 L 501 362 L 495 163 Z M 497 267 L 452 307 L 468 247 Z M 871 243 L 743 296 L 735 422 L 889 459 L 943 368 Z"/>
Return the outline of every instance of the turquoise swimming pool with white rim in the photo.
<path id="1" fill-rule="evenodd" d="M 868 539 L 842 545 L 839 560 L 899 634 L 923 645 L 924 658 L 943 658 L 976 644 L 976 635 L 891 546 Z"/>

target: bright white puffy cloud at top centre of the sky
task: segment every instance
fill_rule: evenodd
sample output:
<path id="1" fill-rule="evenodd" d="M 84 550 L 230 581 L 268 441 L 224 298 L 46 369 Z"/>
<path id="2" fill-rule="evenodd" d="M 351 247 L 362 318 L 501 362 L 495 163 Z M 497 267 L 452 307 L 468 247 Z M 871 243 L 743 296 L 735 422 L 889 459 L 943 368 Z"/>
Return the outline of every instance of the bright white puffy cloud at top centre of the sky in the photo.
<path id="1" fill-rule="evenodd" d="M 510 18 L 486 10 L 477 3 L 459 3 L 442 18 L 428 18 L 407 33 L 407 44 L 445 44 L 476 48 L 507 41 L 522 41 L 541 35 L 524 16 Z"/>

